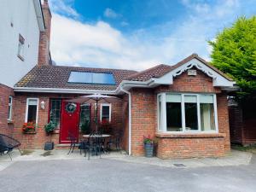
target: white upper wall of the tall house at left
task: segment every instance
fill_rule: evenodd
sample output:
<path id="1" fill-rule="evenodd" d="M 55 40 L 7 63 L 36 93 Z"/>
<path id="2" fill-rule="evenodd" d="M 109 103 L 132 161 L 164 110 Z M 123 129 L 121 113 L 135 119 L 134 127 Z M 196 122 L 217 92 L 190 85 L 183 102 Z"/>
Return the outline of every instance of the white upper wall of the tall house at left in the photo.
<path id="1" fill-rule="evenodd" d="M 11 26 L 13 23 L 13 26 Z M 24 61 L 17 56 L 25 38 Z M 39 27 L 33 0 L 1 0 L 0 83 L 13 87 L 38 63 Z"/>

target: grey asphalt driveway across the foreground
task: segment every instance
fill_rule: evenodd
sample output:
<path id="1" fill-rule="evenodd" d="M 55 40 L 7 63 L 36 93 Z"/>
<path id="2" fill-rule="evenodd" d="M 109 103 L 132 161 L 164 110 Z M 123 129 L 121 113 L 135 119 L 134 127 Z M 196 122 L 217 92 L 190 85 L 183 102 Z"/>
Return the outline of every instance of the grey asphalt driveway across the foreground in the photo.
<path id="1" fill-rule="evenodd" d="M 17 161 L 0 172 L 0 191 L 256 191 L 248 166 L 170 168 L 119 160 Z"/>

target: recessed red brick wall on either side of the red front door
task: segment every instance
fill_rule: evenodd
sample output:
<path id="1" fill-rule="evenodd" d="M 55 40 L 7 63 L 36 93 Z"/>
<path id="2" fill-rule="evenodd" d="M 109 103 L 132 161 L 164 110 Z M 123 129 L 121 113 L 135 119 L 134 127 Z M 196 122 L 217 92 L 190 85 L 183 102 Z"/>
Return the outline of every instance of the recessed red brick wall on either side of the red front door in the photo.
<path id="1" fill-rule="evenodd" d="M 48 141 L 53 141 L 55 144 L 59 143 L 59 133 L 60 130 L 55 131 L 52 135 L 47 135 L 44 131 L 44 125 L 48 123 L 49 119 L 49 100 L 50 98 L 73 98 L 80 95 L 69 95 L 69 94 L 44 94 L 44 93 L 16 93 L 14 97 L 14 131 L 13 136 L 18 139 L 21 143 L 21 148 L 44 148 L 44 143 Z M 38 108 L 38 130 L 36 134 L 23 134 L 22 125 L 25 122 L 26 115 L 26 99 L 27 98 L 38 98 L 39 103 L 44 101 L 45 108 Z M 39 104 L 40 105 L 40 104 Z M 112 117 L 111 125 L 113 135 L 120 134 L 123 137 L 123 127 L 124 127 L 124 118 L 123 118 L 123 103 L 112 103 Z M 124 111 L 125 112 L 125 111 Z M 98 112 L 100 113 L 100 112 Z M 91 111 L 91 122 L 94 116 L 94 110 Z M 98 118 L 100 118 L 98 116 Z M 92 125 L 95 126 L 95 125 Z M 80 137 L 83 139 L 83 137 Z"/>

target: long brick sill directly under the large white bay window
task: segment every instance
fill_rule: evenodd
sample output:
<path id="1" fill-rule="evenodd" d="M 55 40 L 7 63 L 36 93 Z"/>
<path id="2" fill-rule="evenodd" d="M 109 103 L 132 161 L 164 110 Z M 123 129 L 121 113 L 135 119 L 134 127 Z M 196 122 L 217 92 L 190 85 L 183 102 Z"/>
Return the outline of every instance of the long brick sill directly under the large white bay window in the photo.
<path id="1" fill-rule="evenodd" d="M 209 138 L 209 137 L 225 137 L 225 133 L 160 133 L 157 132 L 155 137 L 160 138 Z"/>

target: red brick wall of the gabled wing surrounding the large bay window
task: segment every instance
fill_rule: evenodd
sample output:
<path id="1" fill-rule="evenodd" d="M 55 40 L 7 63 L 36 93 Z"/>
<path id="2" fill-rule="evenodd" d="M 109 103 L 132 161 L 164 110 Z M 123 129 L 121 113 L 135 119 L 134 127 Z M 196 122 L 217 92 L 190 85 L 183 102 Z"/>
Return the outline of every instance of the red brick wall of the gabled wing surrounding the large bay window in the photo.
<path id="1" fill-rule="evenodd" d="M 157 132 L 157 102 L 160 92 L 216 93 L 218 107 L 218 132 L 216 134 L 172 134 Z M 177 76 L 170 86 L 150 89 L 133 89 L 132 96 L 132 154 L 143 155 L 143 136 L 156 137 L 157 156 L 189 158 L 222 156 L 230 150 L 229 116 L 227 97 L 212 86 L 212 79 L 197 70 L 196 76 L 186 72 Z M 200 135 L 200 136 L 199 136 Z M 178 152 L 178 151 L 179 152 Z"/>

